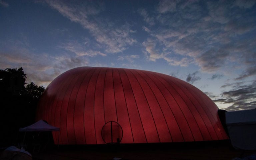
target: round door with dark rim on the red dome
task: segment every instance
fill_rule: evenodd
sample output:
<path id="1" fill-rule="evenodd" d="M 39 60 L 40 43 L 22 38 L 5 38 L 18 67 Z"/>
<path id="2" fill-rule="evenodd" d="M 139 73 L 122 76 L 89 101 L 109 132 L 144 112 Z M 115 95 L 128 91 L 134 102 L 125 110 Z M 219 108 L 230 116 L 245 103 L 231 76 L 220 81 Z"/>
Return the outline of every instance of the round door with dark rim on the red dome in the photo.
<path id="1" fill-rule="evenodd" d="M 105 143 L 120 143 L 123 138 L 123 129 L 116 121 L 109 121 L 101 129 L 101 136 Z"/>

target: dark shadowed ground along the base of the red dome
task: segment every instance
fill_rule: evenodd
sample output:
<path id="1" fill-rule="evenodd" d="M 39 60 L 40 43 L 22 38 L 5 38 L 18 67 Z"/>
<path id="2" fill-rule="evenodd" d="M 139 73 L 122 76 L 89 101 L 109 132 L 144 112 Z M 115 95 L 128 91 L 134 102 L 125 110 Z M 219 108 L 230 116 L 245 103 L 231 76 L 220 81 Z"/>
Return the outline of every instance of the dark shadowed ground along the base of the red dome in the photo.
<path id="1" fill-rule="evenodd" d="M 229 140 L 190 143 L 62 145 L 32 153 L 33 160 L 232 160 L 256 154 L 235 150 Z"/>

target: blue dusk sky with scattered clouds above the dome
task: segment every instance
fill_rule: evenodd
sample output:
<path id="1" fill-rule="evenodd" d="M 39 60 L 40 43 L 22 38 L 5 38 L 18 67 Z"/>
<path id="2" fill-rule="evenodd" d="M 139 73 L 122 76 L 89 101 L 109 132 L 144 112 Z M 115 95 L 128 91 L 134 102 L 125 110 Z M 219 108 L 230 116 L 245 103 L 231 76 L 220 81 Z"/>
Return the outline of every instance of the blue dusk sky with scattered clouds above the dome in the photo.
<path id="1" fill-rule="evenodd" d="M 79 66 L 187 81 L 220 109 L 256 108 L 256 1 L 0 0 L 0 69 L 47 85 Z"/>

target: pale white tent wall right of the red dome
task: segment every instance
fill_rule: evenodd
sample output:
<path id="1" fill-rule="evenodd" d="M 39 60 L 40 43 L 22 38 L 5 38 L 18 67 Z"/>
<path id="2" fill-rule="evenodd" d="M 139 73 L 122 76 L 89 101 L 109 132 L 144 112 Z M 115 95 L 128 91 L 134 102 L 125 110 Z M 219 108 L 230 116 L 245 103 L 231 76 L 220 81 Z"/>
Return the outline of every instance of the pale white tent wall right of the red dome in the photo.
<path id="1" fill-rule="evenodd" d="M 236 149 L 256 149 L 256 109 L 226 112 L 231 143 Z"/>

